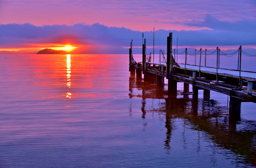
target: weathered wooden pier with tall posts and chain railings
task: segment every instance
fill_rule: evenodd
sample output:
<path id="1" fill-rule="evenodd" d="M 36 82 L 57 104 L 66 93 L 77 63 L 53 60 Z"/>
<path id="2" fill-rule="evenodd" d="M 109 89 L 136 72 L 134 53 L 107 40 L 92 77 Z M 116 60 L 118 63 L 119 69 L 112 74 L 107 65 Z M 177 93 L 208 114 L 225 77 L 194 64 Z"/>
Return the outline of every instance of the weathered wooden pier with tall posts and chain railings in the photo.
<path id="1" fill-rule="evenodd" d="M 131 76 L 141 79 L 144 74 L 144 82 L 156 82 L 156 85 L 163 86 L 164 78 L 168 80 L 168 94 L 177 96 L 177 82 L 184 82 L 184 91 L 188 91 L 189 84 L 193 87 L 193 102 L 198 99 L 198 90 L 204 90 L 204 98 L 210 98 L 210 90 L 230 96 L 229 116 L 236 118 L 240 113 L 241 102 L 256 103 L 256 73 L 241 71 L 241 50 L 240 70 L 203 67 L 186 64 L 177 64 L 172 55 L 172 33 L 167 37 L 167 56 L 164 62 L 147 62 L 146 39 L 143 44 L 142 62 L 136 62 L 132 56 L 132 42 L 129 54 L 129 71 Z M 187 52 L 187 51 L 186 51 Z M 186 60 L 186 59 L 185 59 Z M 201 58 L 200 58 L 201 60 Z"/>

